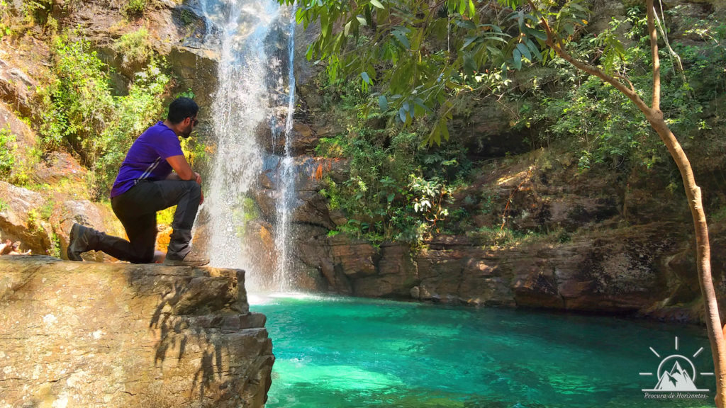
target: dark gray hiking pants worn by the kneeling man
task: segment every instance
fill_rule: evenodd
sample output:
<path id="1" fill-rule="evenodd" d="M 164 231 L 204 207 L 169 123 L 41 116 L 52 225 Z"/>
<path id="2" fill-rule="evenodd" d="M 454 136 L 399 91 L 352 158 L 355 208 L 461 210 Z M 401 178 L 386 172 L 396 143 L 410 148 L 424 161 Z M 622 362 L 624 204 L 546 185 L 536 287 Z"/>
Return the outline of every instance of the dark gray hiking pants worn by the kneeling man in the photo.
<path id="1" fill-rule="evenodd" d="M 183 259 L 191 250 L 192 226 L 202 190 L 194 180 L 139 181 L 129 191 L 111 198 L 111 207 L 129 240 L 98 232 L 95 250 L 121 261 L 149 264 L 156 246 L 156 212 L 176 205 L 167 256 Z"/>

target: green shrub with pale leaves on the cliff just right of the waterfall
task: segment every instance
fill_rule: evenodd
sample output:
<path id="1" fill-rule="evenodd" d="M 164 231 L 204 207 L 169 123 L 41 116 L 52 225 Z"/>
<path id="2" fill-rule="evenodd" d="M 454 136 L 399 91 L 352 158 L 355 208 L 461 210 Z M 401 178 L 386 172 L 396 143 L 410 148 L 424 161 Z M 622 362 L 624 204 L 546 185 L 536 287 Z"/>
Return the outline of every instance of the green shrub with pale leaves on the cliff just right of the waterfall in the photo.
<path id="1" fill-rule="evenodd" d="M 327 109 L 348 125 L 347 133 L 321 139 L 316 150 L 327 158 L 346 158 L 350 166 L 346 180 L 327 177 L 321 191 L 330 208 L 348 216 L 333 234 L 418 245 L 449 219 L 454 183 L 470 163 L 456 144 L 430 150 L 415 128 L 371 128 L 382 118 L 363 113 L 359 86 L 336 80 L 322 95 Z"/>

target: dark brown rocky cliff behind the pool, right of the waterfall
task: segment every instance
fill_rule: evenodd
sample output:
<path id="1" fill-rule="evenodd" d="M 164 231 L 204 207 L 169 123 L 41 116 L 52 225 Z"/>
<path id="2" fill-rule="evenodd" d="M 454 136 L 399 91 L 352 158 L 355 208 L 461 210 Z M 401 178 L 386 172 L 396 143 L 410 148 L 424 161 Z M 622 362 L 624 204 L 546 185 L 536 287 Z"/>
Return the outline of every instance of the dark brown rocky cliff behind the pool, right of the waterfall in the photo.
<path id="1" fill-rule="evenodd" d="M 680 3 L 698 18 L 721 7 L 708 1 Z M 591 23 L 595 31 L 607 27 L 611 15 L 624 14 L 621 1 L 598 3 L 596 9 Z M 673 24 L 682 25 L 677 18 Z M 296 44 L 304 47 L 305 35 L 310 34 L 299 33 Z M 683 40 L 677 30 L 673 35 Z M 300 287 L 371 297 L 701 320 L 693 227 L 680 191 L 647 172 L 579 172 L 566 149 L 555 147 L 552 155 L 528 152 L 531 145 L 524 141 L 534 130 L 511 128 L 507 113 L 484 102 L 473 107 L 476 114 L 452 121 L 453 137 L 468 147 L 473 159 L 494 163 L 482 168 L 468 189 L 457 192 L 457 206 L 472 216 L 473 234 L 433 237 L 416 251 L 405 244 L 376 248 L 343 234 L 332 236 L 330 232 L 347 219 L 327 208 L 319 195 L 324 188 L 320 179 L 347 179 L 346 163 L 327 163 L 312 155 L 318 138 L 345 134 L 346 129 L 333 115 L 308 114 L 322 101 L 314 81 L 306 82 L 314 68 L 300 56 L 295 62 L 301 106 L 296 119 L 307 126 L 290 136 L 303 141 L 298 144 L 304 147 L 296 150 L 297 163 L 314 163 L 299 165 L 296 180 L 291 245 Z M 700 157 L 698 147 L 686 149 L 695 158 L 706 201 L 718 209 L 726 198 L 720 176 L 724 160 Z M 502 158 L 505 152 L 513 153 L 512 158 Z M 271 191 L 274 184 L 264 189 Z M 491 200 L 486 211 L 467 204 L 467 197 L 482 195 Z M 265 200 L 258 203 L 265 208 Z M 499 225 L 502 217 L 515 231 L 537 233 L 516 244 L 480 242 L 476 229 Z M 266 221 L 274 223 L 274 217 Z M 725 225 L 709 222 L 714 282 L 723 297 L 726 259 L 719 233 Z"/>

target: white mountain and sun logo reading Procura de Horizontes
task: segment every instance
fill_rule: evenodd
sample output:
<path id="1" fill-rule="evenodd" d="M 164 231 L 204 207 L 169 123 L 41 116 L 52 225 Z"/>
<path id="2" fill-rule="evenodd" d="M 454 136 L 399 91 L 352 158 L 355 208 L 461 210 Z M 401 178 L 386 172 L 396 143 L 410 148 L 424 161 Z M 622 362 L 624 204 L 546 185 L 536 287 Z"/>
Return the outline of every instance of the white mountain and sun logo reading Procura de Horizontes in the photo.
<path id="1" fill-rule="evenodd" d="M 675 338 L 675 349 L 678 351 L 678 338 Z M 650 347 L 650 351 L 661 359 L 660 354 Z M 693 358 L 698 357 L 703 351 L 703 347 L 699 348 Z M 653 375 L 655 374 L 658 378 L 658 383 L 655 388 L 643 389 L 642 391 L 649 392 L 671 392 L 671 391 L 697 391 L 706 392 L 707 389 L 700 389 L 696 387 L 696 366 L 686 356 L 681 354 L 671 354 L 661 359 L 661 364 L 658 364 L 658 370 L 653 372 L 641 372 L 640 375 Z M 700 375 L 714 375 L 713 372 L 701 372 Z"/>

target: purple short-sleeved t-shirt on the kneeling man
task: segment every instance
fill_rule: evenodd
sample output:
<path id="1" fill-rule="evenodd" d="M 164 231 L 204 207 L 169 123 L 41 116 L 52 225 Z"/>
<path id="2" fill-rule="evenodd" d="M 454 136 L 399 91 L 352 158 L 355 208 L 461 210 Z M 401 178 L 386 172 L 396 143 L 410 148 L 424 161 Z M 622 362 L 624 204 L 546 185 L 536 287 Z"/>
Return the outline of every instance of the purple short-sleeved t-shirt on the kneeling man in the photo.
<path id="1" fill-rule="evenodd" d="M 184 155 L 179 137 L 163 122 L 147 128 L 131 145 L 113 182 L 111 197 L 129 191 L 140 180 L 158 181 L 171 174 L 167 158 Z"/>

